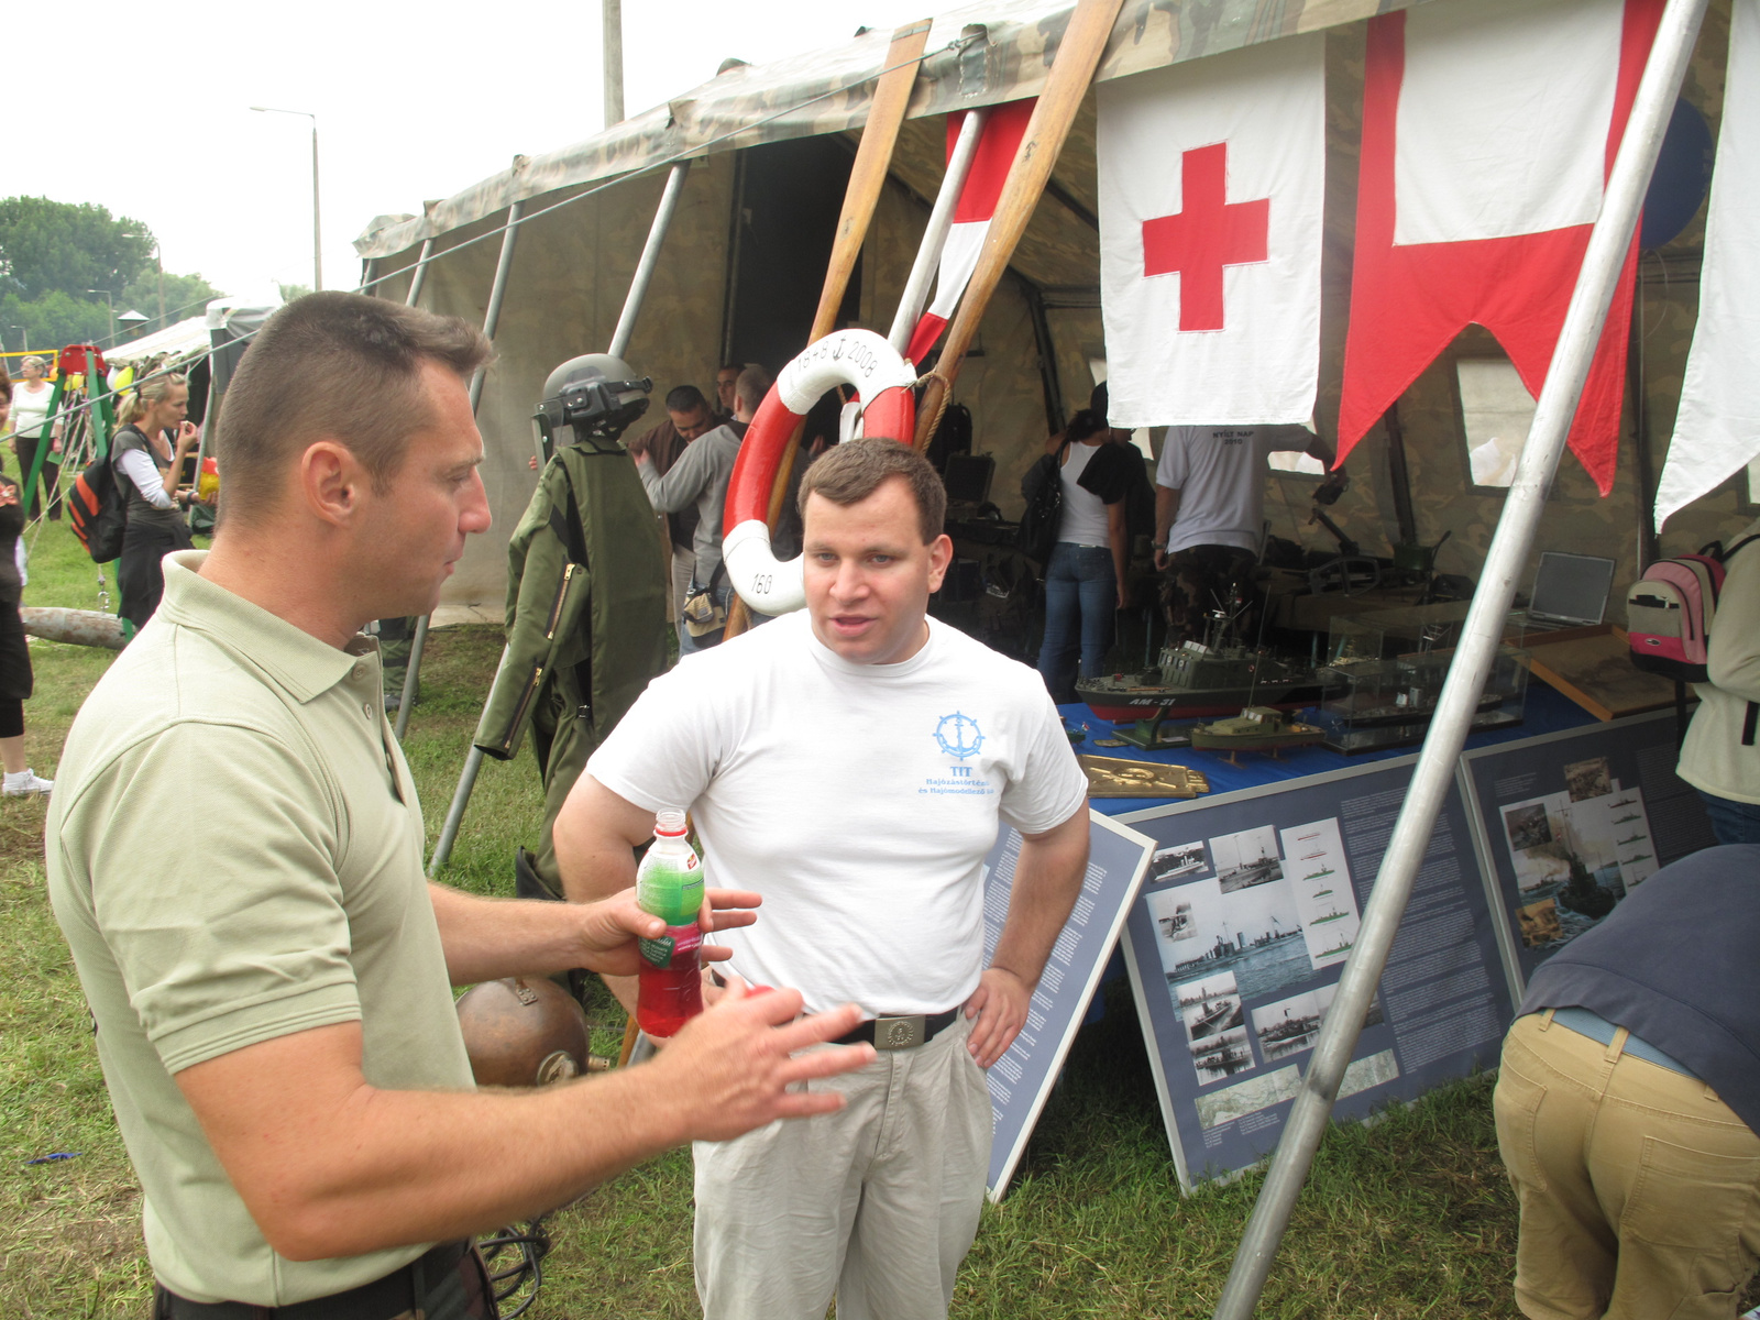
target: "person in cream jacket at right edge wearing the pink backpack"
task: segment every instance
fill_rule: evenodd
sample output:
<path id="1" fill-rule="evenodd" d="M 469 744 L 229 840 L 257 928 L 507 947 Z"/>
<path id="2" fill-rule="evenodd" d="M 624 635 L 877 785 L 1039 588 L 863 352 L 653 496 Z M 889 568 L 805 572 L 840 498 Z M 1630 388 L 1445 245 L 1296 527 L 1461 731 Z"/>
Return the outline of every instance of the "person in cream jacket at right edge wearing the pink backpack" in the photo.
<path id="1" fill-rule="evenodd" d="M 1718 843 L 1760 843 L 1760 523 L 1725 560 L 1705 648 L 1709 683 L 1681 744 L 1679 774 L 1698 788 Z"/>

